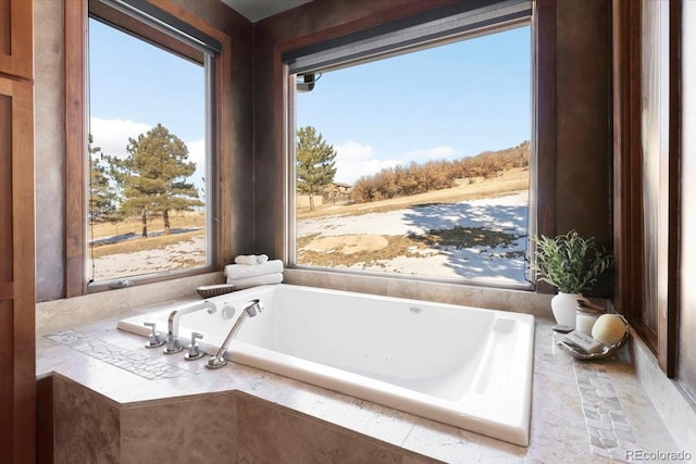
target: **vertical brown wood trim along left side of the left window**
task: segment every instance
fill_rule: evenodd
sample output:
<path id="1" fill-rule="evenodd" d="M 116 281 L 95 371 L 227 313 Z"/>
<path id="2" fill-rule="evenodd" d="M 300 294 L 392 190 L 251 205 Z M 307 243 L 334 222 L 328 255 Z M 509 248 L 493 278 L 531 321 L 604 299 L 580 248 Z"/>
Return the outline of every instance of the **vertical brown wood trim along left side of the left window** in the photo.
<path id="1" fill-rule="evenodd" d="M 87 290 L 87 0 L 66 1 L 64 9 L 65 298 L 72 298 Z"/>

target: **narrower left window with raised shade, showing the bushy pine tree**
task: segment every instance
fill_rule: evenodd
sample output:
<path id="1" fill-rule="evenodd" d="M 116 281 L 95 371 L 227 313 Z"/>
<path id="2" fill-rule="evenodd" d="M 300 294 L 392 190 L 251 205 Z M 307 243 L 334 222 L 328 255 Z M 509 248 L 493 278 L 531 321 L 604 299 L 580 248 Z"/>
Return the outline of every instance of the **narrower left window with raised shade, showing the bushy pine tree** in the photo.
<path id="1" fill-rule="evenodd" d="M 134 4 L 92 1 L 88 22 L 87 277 L 116 287 L 213 261 L 207 192 L 220 45 Z"/>

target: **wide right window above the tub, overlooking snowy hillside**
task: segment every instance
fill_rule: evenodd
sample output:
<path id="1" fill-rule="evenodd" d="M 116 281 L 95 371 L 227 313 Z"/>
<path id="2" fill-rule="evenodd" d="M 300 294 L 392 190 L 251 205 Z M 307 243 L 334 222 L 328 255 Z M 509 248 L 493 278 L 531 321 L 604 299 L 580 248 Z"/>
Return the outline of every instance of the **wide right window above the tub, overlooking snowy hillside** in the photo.
<path id="1" fill-rule="evenodd" d="M 526 286 L 533 57 L 513 7 L 285 57 L 297 266 Z"/>

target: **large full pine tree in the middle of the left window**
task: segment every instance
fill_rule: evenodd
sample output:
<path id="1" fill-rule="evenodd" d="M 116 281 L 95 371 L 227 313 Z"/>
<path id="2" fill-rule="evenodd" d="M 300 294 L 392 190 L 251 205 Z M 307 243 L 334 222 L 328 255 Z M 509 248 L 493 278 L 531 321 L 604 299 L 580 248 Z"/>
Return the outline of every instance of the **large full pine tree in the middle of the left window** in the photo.
<path id="1" fill-rule="evenodd" d="M 125 159 L 110 156 L 114 178 L 123 188 L 121 205 L 126 214 L 142 218 L 142 237 L 148 236 L 148 217 L 161 214 L 164 234 L 171 234 L 170 211 L 202 206 L 194 184 L 186 179 L 196 172 L 188 161 L 188 148 L 158 124 L 137 139 L 128 139 Z"/>

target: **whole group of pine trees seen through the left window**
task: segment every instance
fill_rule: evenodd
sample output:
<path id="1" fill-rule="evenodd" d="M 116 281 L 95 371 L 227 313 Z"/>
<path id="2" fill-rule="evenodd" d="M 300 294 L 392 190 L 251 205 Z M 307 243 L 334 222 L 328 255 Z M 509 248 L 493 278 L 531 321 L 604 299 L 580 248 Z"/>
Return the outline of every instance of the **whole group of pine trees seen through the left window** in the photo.
<path id="1" fill-rule="evenodd" d="M 158 124 L 137 138 L 128 138 L 126 156 L 101 152 L 89 136 L 89 218 L 92 223 L 120 222 L 138 216 L 142 237 L 148 222 L 162 217 L 164 234 L 171 234 L 172 211 L 191 211 L 204 203 L 187 179 L 196 172 L 188 148 Z"/>

